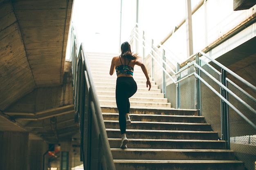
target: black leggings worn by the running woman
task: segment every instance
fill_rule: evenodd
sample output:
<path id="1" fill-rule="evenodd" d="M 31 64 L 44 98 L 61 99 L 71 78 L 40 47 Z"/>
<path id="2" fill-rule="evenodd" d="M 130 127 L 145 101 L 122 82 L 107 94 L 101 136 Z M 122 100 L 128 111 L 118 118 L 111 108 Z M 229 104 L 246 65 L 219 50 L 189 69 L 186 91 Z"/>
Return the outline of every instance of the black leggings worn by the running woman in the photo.
<path id="1" fill-rule="evenodd" d="M 129 98 L 137 91 L 137 84 L 132 77 L 117 77 L 116 102 L 119 111 L 121 134 L 126 133 L 126 113 L 130 112 Z"/>

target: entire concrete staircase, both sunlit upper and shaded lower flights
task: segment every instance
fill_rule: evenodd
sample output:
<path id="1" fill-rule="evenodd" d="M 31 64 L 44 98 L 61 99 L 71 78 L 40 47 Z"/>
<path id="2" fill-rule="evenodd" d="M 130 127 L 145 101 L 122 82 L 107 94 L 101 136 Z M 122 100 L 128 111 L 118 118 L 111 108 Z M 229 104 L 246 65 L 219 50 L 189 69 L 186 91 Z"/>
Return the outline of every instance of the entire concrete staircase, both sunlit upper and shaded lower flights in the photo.
<path id="1" fill-rule="evenodd" d="M 130 99 L 132 123 L 127 126 L 128 149 L 120 149 L 121 134 L 115 103 L 116 76 L 109 75 L 118 54 L 87 53 L 117 170 L 244 170 L 225 141 L 197 110 L 171 108 L 157 86 L 146 89 L 146 78 L 134 71 L 138 91 Z M 141 74 L 142 73 L 142 74 Z M 153 81 L 151 81 L 154 84 Z"/>

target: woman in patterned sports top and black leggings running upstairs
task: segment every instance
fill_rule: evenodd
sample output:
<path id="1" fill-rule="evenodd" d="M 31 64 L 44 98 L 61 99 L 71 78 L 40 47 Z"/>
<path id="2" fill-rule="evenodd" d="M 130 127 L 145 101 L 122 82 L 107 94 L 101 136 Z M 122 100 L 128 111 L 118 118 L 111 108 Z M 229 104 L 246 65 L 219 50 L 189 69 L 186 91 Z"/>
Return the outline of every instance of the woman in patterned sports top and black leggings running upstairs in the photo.
<path id="1" fill-rule="evenodd" d="M 146 86 L 151 88 L 151 83 L 148 76 L 146 66 L 139 61 L 137 54 L 133 54 L 130 49 L 130 44 L 124 42 L 121 45 L 121 55 L 112 58 L 109 74 L 113 75 L 115 70 L 117 72 L 116 84 L 116 102 L 119 112 L 119 127 L 121 130 L 121 146 L 120 148 L 127 148 L 128 139 L 126 138 L 126 124 L 131 123 L 130 120 L 130 102 L 129 98 L 132 97 L 137 91 L 137 84 L 133 79 L 133 68 L 135 65 L 141 67 L 144 75 L 146 76 Z"/>

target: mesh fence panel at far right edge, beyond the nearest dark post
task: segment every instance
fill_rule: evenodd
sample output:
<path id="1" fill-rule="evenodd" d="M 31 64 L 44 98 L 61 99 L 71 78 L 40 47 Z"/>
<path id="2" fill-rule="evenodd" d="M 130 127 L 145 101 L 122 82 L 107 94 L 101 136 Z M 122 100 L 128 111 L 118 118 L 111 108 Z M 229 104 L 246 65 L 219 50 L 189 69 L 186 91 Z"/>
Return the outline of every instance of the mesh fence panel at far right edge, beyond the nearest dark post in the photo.
<path id="1" fill-rule="evenodd" d="M 256 109 L 256 101 L 253 97 L 248 96 L 246 92 L 227 79 L 227 88 L 236 96 L 242 99 L 246 104 Z M 252 123 L 256 124 L 255 113 L 247 108 L 230 93 L 227 93 L 228 101 L 235 106 L 245 117 Z M 256 161 L 256 129 L 243 119 L 234 109 L 228 108 L 228 126 L 230 149 L 235 151 L 238 159 L 243 160 L 247 170 L 255 169 Z"/>

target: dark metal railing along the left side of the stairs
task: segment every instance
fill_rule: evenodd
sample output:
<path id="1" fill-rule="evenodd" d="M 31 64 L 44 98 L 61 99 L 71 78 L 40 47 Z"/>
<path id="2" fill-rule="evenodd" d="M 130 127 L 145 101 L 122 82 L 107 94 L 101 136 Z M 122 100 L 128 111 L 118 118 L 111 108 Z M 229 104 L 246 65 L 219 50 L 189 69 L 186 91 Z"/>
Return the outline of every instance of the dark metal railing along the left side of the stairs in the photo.
<path id="1" fill-rule="evenodd" d="M 72 79 L 75 120 L 81 135 L 81 161 L 85 170 L 115 170 L 101 107 L 83 43 L 77 46 L 74 28 L 71 36 Z"/>

